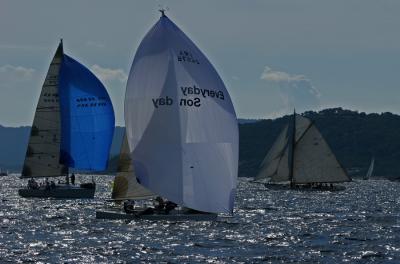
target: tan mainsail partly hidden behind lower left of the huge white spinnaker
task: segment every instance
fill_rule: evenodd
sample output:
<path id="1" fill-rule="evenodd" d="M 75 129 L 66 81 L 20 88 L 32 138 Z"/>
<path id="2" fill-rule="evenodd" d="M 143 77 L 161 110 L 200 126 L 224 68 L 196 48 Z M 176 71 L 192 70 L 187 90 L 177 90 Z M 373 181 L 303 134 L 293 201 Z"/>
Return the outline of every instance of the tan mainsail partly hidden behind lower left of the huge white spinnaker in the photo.
<path id="1" fill-rule="evenodd" d="M 140 200 L 154 196 L 154 193 L 141 186 L 136 180 L 128 140 L 124 135 L 118 162 L 118 172 L 114 179 L 111 198 L 114 200 Z"/>

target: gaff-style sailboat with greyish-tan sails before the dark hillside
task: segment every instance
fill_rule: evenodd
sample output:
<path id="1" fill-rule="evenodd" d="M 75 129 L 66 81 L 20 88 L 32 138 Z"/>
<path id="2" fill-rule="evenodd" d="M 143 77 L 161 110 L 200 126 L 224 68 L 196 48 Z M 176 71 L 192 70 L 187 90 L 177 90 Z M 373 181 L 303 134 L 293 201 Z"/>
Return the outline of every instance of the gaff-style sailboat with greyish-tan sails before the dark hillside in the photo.
<path id="1" fill-rule="evenodd" d="M 296 113 L 262 161 L 255 181 L 262 180 L 317 189 L 351 181 L 315 124 Z"/>

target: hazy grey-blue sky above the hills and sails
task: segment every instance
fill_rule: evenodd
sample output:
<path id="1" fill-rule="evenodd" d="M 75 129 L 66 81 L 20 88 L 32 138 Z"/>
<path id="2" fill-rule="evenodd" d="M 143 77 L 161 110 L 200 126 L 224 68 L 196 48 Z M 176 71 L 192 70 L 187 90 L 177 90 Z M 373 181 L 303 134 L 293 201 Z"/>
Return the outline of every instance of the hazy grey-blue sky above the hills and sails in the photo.
<path id="1" fill-rule="evenodd" d="M 343 107 L 400 113 L 397 0 L 0 0 L 0 124 L 31 125 L 60 38 L 123 125 L 136 49 L 167 9 L 215 66 L 239 118 Z"/>

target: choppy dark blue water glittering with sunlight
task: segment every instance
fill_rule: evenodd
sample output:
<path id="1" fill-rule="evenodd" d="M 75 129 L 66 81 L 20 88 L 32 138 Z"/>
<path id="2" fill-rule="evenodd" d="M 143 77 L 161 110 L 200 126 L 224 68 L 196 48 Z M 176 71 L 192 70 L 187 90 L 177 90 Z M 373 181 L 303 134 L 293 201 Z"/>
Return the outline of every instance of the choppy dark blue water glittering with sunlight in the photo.
<path id="1" fill-rule="evenodd" d="M 96 220 L 111 176 L 93 200 L 24 199 L 24 181 L 0 180 L 0 263 L 400 263 L 400 183 L 386 180 L 332 193 L 240 179 L 230 223 Z"/>

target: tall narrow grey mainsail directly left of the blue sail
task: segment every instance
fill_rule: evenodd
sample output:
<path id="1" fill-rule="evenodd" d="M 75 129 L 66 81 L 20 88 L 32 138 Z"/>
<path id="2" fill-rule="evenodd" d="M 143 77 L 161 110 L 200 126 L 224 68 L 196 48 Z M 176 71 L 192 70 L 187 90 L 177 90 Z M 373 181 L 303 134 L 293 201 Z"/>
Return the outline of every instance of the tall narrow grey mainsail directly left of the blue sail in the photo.
<path id="1" fill-rule="evenodd" d="M 36 107 L 22 178 L 54 177 L 68 173 L 68 168 L 59 163 L 58 73 L 62 56 L 62 44 L 60 44 L 50 64 Z"/>

